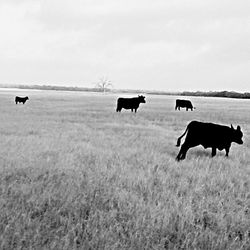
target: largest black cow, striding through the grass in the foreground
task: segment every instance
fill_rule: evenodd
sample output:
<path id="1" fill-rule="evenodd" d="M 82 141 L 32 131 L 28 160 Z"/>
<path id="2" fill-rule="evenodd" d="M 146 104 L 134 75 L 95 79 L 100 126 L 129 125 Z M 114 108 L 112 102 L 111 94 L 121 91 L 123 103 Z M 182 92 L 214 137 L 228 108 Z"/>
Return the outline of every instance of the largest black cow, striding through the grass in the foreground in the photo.
<path id="1" fill-rule="evenodd" d="M 176 160 L 184 160 L 189 148 L 202 145 L 204 148 L 212 148 L 212 157 L 216 155 L 216 149 L 226 150 L 228 156 L 231 143 L 235 142 L 243 144 L 240 126 L 234 129 L 233 126 L 227 127 L 214 123 L 205 123 L 198 121 L 191 121 L 184 134 L 177 140 L 177 147 L 180 146 L 181 138 L 186 135 L 185 142 L 182 144 Z"/>

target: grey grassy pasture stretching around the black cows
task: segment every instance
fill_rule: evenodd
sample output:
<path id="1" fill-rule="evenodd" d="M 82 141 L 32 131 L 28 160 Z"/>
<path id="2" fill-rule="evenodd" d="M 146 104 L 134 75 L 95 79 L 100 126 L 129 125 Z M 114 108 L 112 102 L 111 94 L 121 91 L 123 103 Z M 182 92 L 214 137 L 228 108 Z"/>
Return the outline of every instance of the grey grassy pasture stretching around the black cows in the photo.
<path id="1" fill-rule="evenodd" d="M 250 249 L 250 100 L 146 96 L 135 114 L 117 97 L 0 92 L 0 249 Z M 176 162 L 191 120 L 244 144 Z"/>

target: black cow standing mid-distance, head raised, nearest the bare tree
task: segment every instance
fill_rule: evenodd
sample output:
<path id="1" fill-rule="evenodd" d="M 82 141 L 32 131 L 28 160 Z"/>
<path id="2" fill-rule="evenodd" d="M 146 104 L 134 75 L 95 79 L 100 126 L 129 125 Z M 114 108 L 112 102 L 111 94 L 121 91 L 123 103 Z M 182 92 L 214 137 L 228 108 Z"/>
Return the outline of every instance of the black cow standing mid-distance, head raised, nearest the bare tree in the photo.
<path id="1" fill-rule="evenodd" d="M 140 103 L 146 103 L 145 96 L 138 95 L 138 97 L 133 98 L 118 98 L 116 112 L 121 112 L 124 109 L 135 110 L 135 113 L 140 105 Z"/>

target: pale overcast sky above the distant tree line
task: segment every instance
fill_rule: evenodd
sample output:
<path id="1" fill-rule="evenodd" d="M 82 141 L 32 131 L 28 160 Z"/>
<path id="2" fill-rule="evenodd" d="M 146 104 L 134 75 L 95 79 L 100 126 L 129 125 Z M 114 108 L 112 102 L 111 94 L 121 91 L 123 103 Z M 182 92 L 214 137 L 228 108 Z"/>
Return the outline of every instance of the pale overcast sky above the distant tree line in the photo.
<path id="1" fill-rule="evenodd" d="M 0 0 L 0 83 L 250 92 L 249 0 Z"/>

